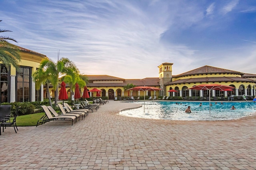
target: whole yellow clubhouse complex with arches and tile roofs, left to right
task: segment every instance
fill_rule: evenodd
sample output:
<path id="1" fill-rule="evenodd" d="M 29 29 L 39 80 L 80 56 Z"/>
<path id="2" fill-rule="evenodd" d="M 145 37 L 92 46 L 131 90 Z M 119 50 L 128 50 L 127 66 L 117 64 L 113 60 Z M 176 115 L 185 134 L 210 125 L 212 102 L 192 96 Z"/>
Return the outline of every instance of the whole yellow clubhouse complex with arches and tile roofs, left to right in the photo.
<path id="1" fill-rule="evenodd" d="M 40 90 L 35 89 L 32 74 L 36 72 L 40 62 L 48 59 L 46 55 L 20 47 L 21 62 L 18 70 L 11 67 L 10 71 L 0 64 L 0 103 L 3 102 L 34 102 L 43 101 L 47 98 L 46 89 L 42 85 Z M 158 66 L 159 77 L 143 79 L 124 79 L 109 75 L 86 75 L 89 82 L 86 84 L 88 90 L 97 88 L 102 90 L 100 96 L 114 100 L 133 96 L 144 96 L 144 92 L 127 91 L 124 86 L 133 84 L 135 86 L 152 86 L 161 88 L 160 91 L 146 91 L 146 96 L 158 98 L 159 96 L 172 96 L 184 99 L 207 98 L 207 90 L 188 90 L 198 84 L 223 84 L 234 87 L 233 91 L 212 90 L 213 98 L 225 99 L 232 93 L 234 96 L 246 95 L 249 99 L 256 95 L 256 74 L 247 74 L 213 66 L 202 66 L 179 75 L 172 75 L 173 63 L 162 63 Z M 84 87 L 80 87 L 83 92 Z M 59 88 L 60 89 L 60 88 Z M 176 92 L 168 92 L 174 89 Z M 66 86 L 70 97 L 70 88 Z M 54 89 L 50 88 L 50 94 L 54 97 Z M 91 97 L 96 96 L 89 92 Z M 81 94 L 82 95 L 82 94 Z"/>

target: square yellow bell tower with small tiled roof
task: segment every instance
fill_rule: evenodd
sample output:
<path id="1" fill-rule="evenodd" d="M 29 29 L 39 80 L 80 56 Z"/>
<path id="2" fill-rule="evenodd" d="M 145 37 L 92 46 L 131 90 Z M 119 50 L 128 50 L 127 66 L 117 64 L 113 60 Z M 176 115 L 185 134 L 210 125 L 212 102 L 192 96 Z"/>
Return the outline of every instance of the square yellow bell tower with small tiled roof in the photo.
<path id="1" fill-rule="evenodd" d="M 159 84 L 160 88 L 162 88 L 162 95 L 165 96 L 166 94 L 166 84 L 167 82 L 170 82 L 172 80 L 172 64 L 173 63 L 162 63 L 159 68 Z"/>

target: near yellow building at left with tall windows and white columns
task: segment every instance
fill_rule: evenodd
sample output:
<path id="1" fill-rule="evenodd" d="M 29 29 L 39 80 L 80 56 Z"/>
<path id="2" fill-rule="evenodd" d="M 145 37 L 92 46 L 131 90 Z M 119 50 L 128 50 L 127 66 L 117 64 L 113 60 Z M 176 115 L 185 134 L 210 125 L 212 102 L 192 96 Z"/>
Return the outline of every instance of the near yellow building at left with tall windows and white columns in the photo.
<path id="1" fill-rule="evenodd" d="M 4 64 L 0 64 L 0 103 L 43 100 L 43 86 L 41 86 L 41 90 L 35 89 L 32 74 L 36 72 L 40 62 L 47 57 L 22 47 L 19 49 L 21 57 L 19 69 L 16 70 L 11 66 L 8 71 Z"/>

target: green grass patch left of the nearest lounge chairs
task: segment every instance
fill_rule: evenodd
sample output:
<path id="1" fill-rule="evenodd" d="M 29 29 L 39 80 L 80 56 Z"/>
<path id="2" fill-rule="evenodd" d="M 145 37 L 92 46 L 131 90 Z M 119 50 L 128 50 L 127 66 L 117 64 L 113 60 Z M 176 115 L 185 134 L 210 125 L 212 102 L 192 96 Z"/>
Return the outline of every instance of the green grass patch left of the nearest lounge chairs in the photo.
<path id="1" fill-rule="evenodd" d="M 37 121 L 44 114 L 45 113 L 34 113 L 34 114 L 30 114 L 30 115 L 18 116 L 18 117 L 16 117 L 16 124 L 17 124 L 17 126 L 36 126 Z"/>

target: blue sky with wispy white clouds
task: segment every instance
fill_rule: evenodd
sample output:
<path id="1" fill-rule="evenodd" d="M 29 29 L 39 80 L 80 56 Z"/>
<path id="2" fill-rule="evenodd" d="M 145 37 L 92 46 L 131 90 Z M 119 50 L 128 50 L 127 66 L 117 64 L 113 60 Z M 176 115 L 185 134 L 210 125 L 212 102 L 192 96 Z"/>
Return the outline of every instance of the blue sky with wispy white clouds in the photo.
<path id="1" fill-rule="evenodd" d="M 1 33 L 81 74 L 141 79 L 209 65 L 256 74 L 255 0 L 0 0 Z"/>

